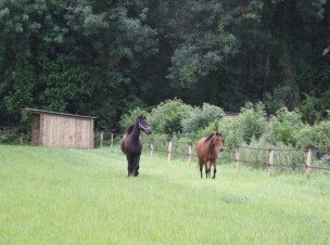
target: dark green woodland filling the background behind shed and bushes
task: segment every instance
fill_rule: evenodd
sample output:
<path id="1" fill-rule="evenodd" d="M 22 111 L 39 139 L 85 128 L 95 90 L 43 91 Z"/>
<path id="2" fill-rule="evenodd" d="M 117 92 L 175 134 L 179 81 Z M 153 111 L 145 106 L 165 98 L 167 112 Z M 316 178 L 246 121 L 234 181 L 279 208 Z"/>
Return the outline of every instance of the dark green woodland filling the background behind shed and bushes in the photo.
<path id="1" fill-rule="evenodd" d="M 22 107 L 99 118 L 180 98 L 237 112 L 330 105 L 326 0 L 2 0 L 0 121 Z"/>

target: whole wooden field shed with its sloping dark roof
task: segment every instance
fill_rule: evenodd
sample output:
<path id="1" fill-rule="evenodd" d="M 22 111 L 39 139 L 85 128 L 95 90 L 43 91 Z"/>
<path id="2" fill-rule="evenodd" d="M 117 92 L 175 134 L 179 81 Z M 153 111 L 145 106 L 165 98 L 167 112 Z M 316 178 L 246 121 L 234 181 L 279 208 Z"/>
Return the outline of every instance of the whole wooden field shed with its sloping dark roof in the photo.
<path id="1" fill-rule="evenodd" d="M 94 119 L 91 116 L 23 108 L 33 114 L 31 144 L 42 146 L 94 147 Z"/>

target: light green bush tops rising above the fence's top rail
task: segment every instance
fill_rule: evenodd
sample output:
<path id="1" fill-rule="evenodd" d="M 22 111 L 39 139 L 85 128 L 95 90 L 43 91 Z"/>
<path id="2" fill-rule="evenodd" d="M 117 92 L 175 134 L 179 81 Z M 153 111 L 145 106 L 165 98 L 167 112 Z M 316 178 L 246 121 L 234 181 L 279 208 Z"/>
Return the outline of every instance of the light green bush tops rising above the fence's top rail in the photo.
<path id="1" fill-rule="evenodd" d="M 223 108 L 203 104 L 192 107 L 182 101 L 167 100 L 151 112 L 136 108 L 120 120 L 122 128 L 128 128 L 134 119 L 144 114 L 153 128 L 151 139 L 175 139 L 196 141 L 215 131 L 221 132 L 229 149 L 238 145 L 277 149 L 318 149 L 329 152 L 330 120 L 310 126 L 304 122 L 299 109 L 279 108 L 274 116 L 266 116 L 265 105 L 245 103 L 240 113 L 225 116 Z"/>

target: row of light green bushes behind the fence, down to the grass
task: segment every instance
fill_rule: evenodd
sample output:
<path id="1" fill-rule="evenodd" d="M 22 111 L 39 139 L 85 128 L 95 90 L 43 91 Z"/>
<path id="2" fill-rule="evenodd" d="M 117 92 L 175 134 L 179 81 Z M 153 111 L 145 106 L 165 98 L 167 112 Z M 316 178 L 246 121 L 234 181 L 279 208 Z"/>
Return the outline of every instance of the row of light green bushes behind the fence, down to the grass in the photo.
<path id="1" fill-rule="evenodd" d="M 135 108 L 122 117 L 120 125 L 127 128 L 141 114 L 147 112 Z M 270 149 L 275 149 L 276 171 L 305 171 L 306 152 L 302 150 L 308 147 L 322 150 L 315 151 L 314 166 L 328 167 L 330 163 L 327 154 L 330 121 L 314 126 L 303 124 L 300 111 L 289 112 L 282 107 L 267 120 L 262 103 L 246 103 L 238 116 L 224 117 L 220 107 L 206 103 L 202 107 L 192 107 L 174 99 L 161 103 L 147 117 L 153 133 L 142 134 L 145 152 L 150 151 L 152 143 L 154 152 L 167 155 L 170 139 L 172 157 L 187 158 L 189 143 L 195 155 L 196 141 L 218 131 L 225 140 L 225 151 L 219 154 L 219 163 L 232 163 L 238 145 L 241 146 L 242 164 L 253 168 L 267 168 Z M 300 151 L 292 151 L 294 147 Z"/>

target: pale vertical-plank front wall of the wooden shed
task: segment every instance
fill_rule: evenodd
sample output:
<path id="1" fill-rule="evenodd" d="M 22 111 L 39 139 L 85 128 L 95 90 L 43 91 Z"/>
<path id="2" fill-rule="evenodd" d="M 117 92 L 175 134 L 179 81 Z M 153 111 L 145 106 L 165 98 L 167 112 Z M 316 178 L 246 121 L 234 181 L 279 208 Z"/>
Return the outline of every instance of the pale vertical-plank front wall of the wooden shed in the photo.
<path id="1" fill-rule="evenodd" d="M 94 146 L 91 118 L 40 115 L 40 145 L 91 149 Z"/>

